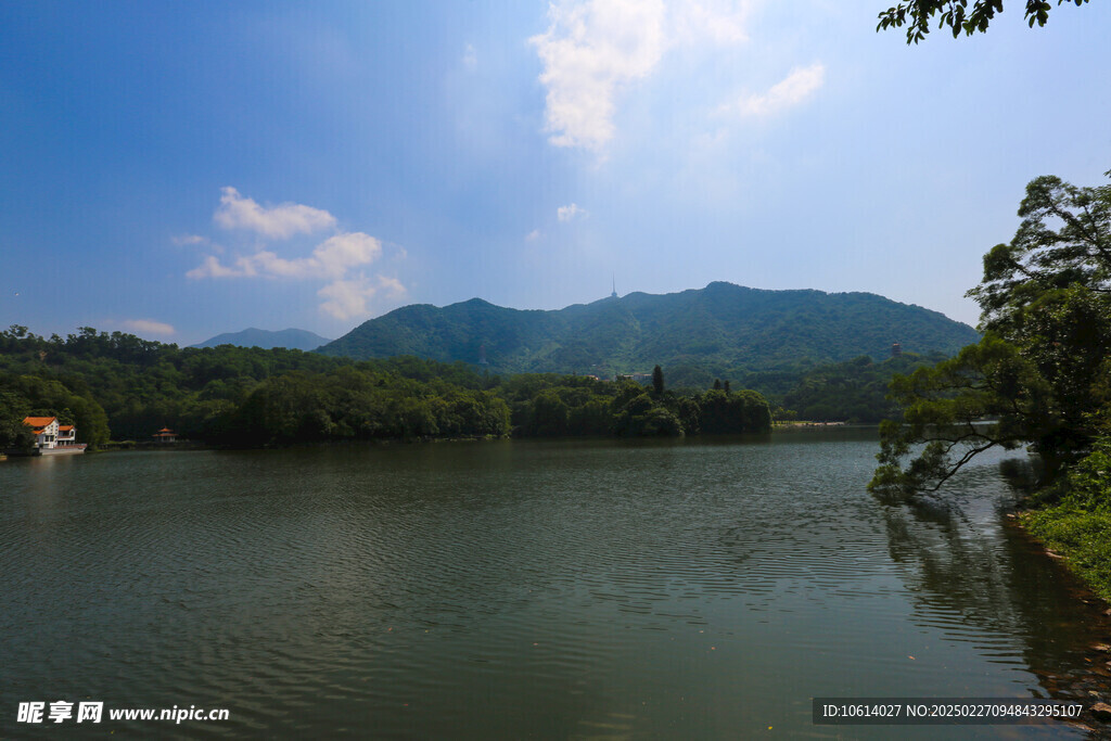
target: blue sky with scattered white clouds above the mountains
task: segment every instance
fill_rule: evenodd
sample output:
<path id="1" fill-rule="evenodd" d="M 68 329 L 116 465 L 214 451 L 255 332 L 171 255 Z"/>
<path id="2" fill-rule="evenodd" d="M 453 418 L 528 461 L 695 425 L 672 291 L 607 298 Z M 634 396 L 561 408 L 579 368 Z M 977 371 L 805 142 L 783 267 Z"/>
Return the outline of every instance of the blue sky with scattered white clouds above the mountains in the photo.
<path id="1" fill-rule="evenodd" d="M 969 323 L 1025 183 L 1105 182 L 1111 4 L 0 4 L 0 326 L 340 337 L 725 280 Z"/>

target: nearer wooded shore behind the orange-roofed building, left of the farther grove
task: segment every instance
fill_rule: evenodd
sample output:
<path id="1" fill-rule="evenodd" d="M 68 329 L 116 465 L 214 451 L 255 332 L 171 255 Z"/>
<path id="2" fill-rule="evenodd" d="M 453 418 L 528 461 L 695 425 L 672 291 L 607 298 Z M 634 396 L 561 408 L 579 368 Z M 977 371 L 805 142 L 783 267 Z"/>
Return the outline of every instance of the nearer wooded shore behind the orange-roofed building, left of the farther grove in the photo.
<path id="1" fill-rule="evenodd" d="M 88 327 L 64 339 L 22 327 L 0 332 L 4 423 L 40 412 L 64 420 L 68 409 L 78 440 L 93 445 L 109 429 L 114 439 L 142 441 L 167 425 L 238 444 L 503 434 L 508 410 L 481 387 L 462 364 L 416 358 L 352 363 L 299 350 L 181 349 Z M 354 421 L 356 413 L 373 422 Z"/>

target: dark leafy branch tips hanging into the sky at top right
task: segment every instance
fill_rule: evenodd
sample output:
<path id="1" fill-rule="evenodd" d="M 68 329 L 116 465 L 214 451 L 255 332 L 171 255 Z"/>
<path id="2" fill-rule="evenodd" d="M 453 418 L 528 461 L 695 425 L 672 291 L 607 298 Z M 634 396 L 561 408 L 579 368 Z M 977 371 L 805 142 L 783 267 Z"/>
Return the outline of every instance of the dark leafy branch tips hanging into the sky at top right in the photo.
<path id="1" fill-rule="evenodd" d="M 1059 6 L 1065 2 L 1082 6 L 1088 0 L 1057 0 Z M 1053 6 L 1047 0 L 1025 0 L 1025 18 L 1030 28 L 1034 23 L 1045 26 Z M 930 32 L 930 20 L 939 16 L 938 28 L 949 27 L 955 39 L 961 31 L 965 36 L 987 31 L 995 13 L 1001 12 L 1003 0 L 974 0 L 971 11 L 968 9 L 968 0 L 910 0 L 881 12 L 875 30 L 907 26 L 907 43 L 918 43 Z"/>

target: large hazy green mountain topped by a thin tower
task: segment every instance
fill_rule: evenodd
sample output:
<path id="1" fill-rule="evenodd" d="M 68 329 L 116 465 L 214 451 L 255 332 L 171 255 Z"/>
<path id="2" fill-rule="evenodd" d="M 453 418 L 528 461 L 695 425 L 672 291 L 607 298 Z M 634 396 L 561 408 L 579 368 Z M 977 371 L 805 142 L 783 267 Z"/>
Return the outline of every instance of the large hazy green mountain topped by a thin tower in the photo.
<path id="1" fill-rule="evenodd" d="M 498 372 L 612 374 L 657 363 L 752 372 L 887 358 L 954 353 L 977 342 L 968 324 L 874 293 L 764 291 L 732 283 L 653 296 L 630 293 L 558 311 L 522 311 L 471 299 L 442 309 L 402 307 L 320 348 L 356 359 L 414 354 L 482 363 Z"/>

